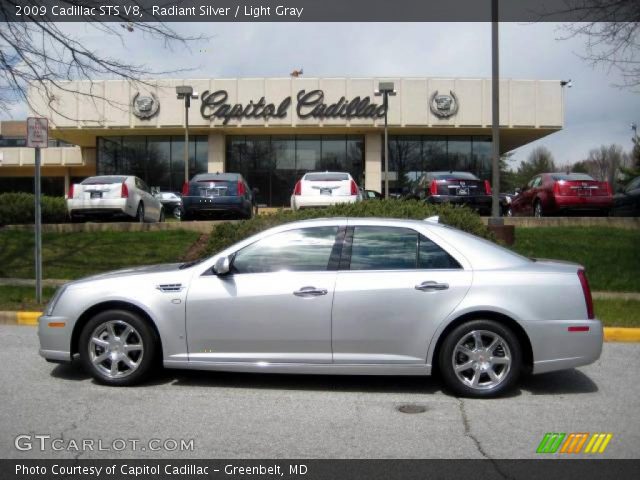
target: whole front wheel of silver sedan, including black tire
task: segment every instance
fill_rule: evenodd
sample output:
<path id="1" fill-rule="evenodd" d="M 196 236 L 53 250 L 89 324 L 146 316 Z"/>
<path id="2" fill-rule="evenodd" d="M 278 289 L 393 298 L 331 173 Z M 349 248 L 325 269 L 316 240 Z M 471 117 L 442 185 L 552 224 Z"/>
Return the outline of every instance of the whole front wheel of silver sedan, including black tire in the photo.
<path id="1" fill-rule="evenodd" d="M 126 330 L 129 333 L 123 340 Z M 105 345 L 99 345 L 92 339 L 99 339 Z M 107 310 L 97 314 L 84 326 L 78 351 L 82 366 L 96 381 L 105 385 L 129 386 L 141 383 L 149 376 L 156 360 L 158 344 L 155 331 L 138 315 L 127 310 Z M 127 352 L 125 345 L 141 348 Z M 110 355 L 117 356 L 115 364 Z M 102 356 L 105 358 L 100 361 Z"/>

